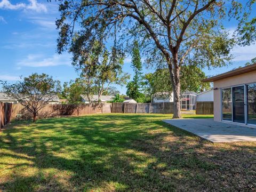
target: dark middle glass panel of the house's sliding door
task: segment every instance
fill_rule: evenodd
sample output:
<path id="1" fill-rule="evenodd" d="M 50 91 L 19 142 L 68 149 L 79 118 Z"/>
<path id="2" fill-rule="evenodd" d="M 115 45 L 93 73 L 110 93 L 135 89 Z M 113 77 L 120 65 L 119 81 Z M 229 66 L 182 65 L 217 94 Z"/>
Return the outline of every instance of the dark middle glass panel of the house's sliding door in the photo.
<path id="1" fill-rule="evenodd" d="M 233 121 L 245 123 L 244 86 L 233 87 Z"/>

